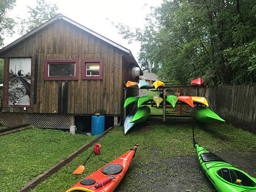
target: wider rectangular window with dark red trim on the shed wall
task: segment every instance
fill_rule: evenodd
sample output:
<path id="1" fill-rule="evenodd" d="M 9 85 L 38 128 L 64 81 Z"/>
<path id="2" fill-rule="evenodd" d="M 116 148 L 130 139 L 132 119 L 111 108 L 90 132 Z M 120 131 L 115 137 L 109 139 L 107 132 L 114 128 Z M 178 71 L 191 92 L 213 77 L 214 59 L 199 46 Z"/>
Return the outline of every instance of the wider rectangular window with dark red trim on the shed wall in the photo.
<path id="1" fill-rule="evenodd" d="M 50 59 L 44 61 L 44 80 L 78 80 L 78 59 Z"/>

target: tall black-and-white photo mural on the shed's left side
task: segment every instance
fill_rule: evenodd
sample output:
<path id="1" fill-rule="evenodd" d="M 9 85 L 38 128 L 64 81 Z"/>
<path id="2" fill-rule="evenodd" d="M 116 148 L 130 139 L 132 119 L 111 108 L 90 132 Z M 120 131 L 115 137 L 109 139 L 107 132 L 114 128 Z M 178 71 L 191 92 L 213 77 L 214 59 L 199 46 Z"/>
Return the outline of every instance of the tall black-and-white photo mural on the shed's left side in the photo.
<path id="1" fill-rule="evenodd" d="M 8 105 L 30 105 L 31 58 L 9 59 Z"/>

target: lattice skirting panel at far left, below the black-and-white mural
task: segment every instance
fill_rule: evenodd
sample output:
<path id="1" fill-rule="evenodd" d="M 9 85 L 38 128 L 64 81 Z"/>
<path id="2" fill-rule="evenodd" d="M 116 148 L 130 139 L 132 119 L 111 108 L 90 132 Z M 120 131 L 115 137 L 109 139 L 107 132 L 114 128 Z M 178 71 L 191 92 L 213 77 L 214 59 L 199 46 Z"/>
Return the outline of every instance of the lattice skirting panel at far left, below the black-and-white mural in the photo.
<path id="1" fill-rule="evenodd" d="M 26 123 L 26 113 L 6 113 L 0 111 L 0 125 L 4 127 L 15 127 Z"/>

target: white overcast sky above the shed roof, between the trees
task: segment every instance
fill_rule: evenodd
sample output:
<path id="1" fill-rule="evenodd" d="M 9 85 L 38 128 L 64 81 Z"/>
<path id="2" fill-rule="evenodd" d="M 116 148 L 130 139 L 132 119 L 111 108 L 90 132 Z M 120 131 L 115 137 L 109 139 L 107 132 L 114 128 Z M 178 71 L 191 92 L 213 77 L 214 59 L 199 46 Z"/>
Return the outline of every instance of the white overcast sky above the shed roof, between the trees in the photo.
<path id="1" fill-rule="evenodd" d="M 47 3 L 57 3 L 57 13 L 69 17 L 77 23 L 109 38 L 117 44 L 130 49 L 134 58 L 137 59 L 140 51 L 140 43 L 128 44 L 118 34 L 118 29 L 111 25 L 123 23 L 130 27 L 141 27 L 145 24 L 145 16 L 151 6 L 160 6 L 162 0 L 46 0 Z M 17 16 L 27 18 L 28 9 L 26 6 L 35 5 L 36 0 L 17 0 L 16 7 L 9 12 L 9 17 Z M 106 19 L 108 18 L 108 19 Z M 20 38 L 16 34 L 13 38 L 6 38 L 5 46 Z M 137 60 L 138 61 L 138 60 Z"/>

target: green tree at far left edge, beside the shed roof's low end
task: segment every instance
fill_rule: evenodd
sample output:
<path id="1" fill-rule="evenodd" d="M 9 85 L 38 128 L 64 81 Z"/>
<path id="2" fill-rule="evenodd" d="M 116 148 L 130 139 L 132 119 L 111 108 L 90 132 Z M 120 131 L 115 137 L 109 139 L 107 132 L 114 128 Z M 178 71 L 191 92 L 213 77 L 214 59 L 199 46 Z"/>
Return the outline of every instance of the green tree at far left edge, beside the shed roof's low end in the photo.
<path id="1" fill-rule="evenodd" d="M 7 12 L 15 6 L 16 0 L 0 0 L 0 47 L 3 46 L 4 36 L 11 36 L 15 21 L 7 16 Z"/>

